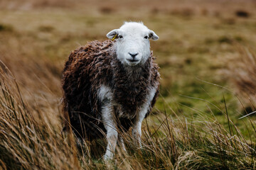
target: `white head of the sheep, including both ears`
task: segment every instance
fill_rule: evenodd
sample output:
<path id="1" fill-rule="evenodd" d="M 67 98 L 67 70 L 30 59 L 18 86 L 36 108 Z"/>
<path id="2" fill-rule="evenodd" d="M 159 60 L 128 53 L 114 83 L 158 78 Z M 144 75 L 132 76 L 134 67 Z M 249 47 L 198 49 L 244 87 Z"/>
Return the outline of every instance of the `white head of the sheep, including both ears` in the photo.
<path id="1" fill-rule="evenodd" d="M 117 59 L 129 66 L 144 64 L 150 57 L 149 39 L 159 39 L 153 30 L 136 22 L 125 22 L 119 29 L 107 33 L 107 38 L 116 39 Z"/>

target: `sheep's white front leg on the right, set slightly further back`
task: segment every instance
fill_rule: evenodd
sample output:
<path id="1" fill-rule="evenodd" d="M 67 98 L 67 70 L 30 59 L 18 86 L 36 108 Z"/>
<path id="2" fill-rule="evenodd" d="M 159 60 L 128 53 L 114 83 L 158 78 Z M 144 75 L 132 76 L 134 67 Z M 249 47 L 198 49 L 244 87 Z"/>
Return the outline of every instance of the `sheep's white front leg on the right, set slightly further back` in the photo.
<path id="1" fill-rule="evenodd" d="M 149 111 L 149 104 L 145 103 L 144 106 L 142 106 L 141 111 L 137 114 L 136 121 L 134 123 L 134 126 L 132 127 L 132 135 L 134 137 L 135 142 L 139 145 L 139 147 L 142 147 L 142 121 L 145 118 L 146 113 Z"/>

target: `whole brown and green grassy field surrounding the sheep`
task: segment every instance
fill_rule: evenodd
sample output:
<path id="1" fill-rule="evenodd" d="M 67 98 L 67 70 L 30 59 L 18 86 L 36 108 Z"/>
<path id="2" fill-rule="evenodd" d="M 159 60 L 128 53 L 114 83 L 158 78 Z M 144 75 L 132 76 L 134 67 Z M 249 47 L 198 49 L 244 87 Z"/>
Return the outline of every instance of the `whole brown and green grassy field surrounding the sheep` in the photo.
<path id="1" fill-rule="evenodd" d="M 255 1 L 0 2 L 0 169 L 255 169 Z M 61 71 L 70 51 L 143 21 L 161 93 L 143 148 L 65 135 Z M 98 147 L 100 146 L 100 147 Z M 99 149 L 100 148 L 100 149 Z"/>

